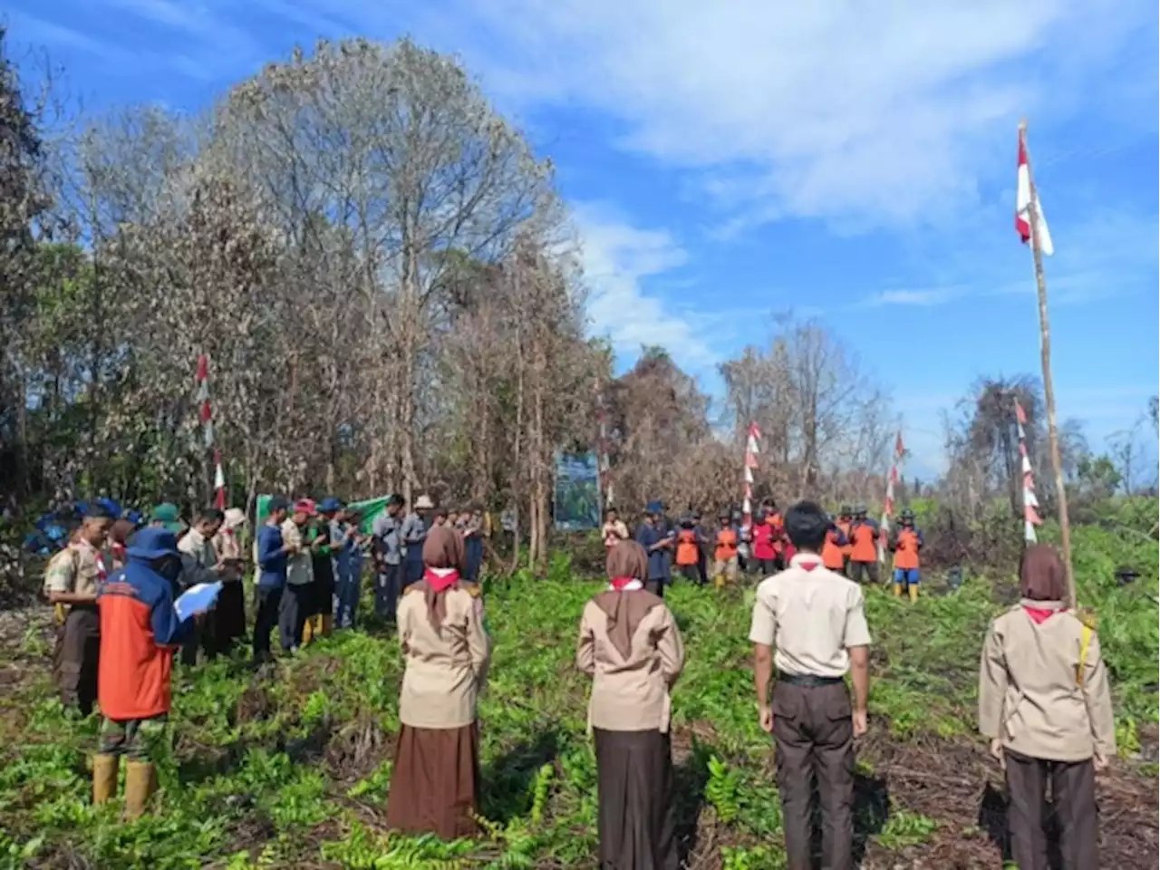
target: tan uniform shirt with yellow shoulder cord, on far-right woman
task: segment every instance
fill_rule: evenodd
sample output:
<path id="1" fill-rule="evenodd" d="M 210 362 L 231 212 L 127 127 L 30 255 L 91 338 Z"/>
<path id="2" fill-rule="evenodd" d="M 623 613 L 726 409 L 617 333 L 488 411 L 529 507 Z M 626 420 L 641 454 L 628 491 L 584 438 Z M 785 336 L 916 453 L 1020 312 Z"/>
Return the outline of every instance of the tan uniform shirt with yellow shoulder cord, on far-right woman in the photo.
<path id="1" fill-rule="evenodd" d="M 1027 602 L 1063 610 L 1061 602 Z M 1018 604 L 991 624 L 979 666 L 979 731 L 1032 759 L 1085 761 L 1116 754 L 1108 669 L 1092 632 L 1082 686 L 1083 623 L 1071 611 L 1036 625 Z"/>

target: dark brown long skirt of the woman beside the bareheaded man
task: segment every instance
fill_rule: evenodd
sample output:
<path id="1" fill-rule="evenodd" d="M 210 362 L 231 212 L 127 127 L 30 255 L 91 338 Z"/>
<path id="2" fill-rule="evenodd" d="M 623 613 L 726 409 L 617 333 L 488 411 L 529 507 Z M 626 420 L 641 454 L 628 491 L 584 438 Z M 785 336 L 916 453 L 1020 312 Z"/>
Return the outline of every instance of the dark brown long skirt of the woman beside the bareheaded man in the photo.
<path id="1" fill-rule="evenodd" d="M 602 870 L 677 870 L 673 753 L 659 731 L 596 738 Z"/>

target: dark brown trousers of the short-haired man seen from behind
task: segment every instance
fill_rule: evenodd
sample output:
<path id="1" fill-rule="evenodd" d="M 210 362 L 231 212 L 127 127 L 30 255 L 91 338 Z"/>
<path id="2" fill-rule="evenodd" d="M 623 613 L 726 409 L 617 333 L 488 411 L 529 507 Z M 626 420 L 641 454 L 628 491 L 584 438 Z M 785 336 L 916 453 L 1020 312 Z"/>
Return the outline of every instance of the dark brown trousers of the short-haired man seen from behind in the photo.
<path id="1" fill-rule="evenodd" d="M 814 785 L 821 809 L 821 865 L 854 868 L 854 723 L 846 684 L 774 684 L 774 741 L 788 870 L 811 870 Z"/>

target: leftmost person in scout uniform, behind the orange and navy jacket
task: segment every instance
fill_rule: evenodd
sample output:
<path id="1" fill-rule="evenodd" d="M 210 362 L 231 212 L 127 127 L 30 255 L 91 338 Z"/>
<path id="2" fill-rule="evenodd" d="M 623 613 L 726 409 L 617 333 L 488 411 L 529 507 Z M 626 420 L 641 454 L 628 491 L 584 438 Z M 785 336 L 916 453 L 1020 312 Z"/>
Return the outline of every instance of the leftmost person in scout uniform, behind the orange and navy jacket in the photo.
<path id="1" fill-rule="evenodd" d="M 101 655 L 101 618 L 96 609 L 97 585 L 113 568 L 104 552 L 113 517 L 93 506 L 68 545 L 44 571 L 44 595 L 56 607 L 57 646 L 52 676 L 60 702 L 81 716 L 93 712 L 97 662 Z"/>

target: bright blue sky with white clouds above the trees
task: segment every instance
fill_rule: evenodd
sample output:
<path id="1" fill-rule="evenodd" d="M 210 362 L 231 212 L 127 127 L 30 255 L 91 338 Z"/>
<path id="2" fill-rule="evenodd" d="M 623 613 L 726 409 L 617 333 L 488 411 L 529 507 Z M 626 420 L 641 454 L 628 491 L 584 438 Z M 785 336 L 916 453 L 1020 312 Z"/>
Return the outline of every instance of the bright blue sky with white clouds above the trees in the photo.
<path id="1" fill-rule="evenodd" d="M 1151 0 L 7 0 L 93 109 L 195 111 L 319 35 L 459 55 L 557 164 L 593 329 L 710 391 L 774 314 L 893 389 L 916 467 L 980 375 L 1039 371 L 1014 230 L 1021 116 L 1061 416 L 1093 448 L 1160 393 L 1160 6 Z M 19 49 L 17 49 L 19 52 Z"/>

